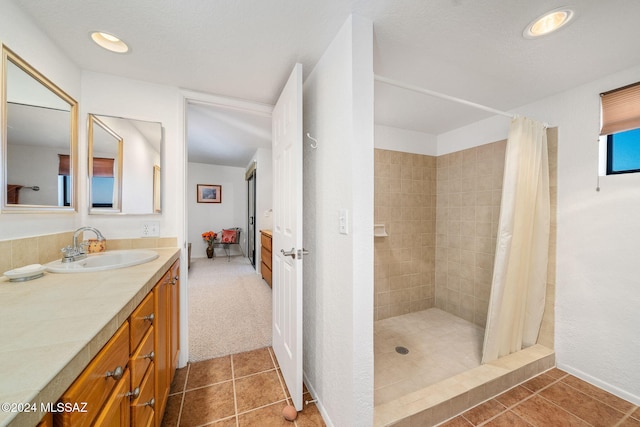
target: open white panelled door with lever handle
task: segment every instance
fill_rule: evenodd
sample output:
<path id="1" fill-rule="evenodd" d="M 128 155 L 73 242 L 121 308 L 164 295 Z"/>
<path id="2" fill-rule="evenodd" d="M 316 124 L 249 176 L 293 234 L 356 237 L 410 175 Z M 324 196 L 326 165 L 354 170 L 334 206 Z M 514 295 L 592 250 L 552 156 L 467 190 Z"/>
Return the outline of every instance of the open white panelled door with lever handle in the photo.
<path id="1" fill-rule="evenodd" d="M 302 65 L 273 110 L 273 351 L 302 410 Z"/>

